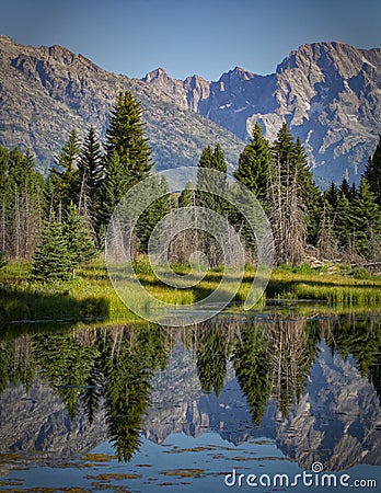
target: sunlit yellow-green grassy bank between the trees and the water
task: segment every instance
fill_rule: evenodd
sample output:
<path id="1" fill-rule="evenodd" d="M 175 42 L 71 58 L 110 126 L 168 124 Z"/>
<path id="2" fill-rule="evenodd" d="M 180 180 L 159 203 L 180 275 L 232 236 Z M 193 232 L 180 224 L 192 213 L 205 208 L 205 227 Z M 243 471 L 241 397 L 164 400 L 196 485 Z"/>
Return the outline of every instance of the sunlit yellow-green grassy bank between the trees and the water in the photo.
<path id="1" fill-rule="evenodd" d="M 197 287 L 175 289 L 163 285 L 150 271 L 147 259 L 135 265 L 141 284 L 153 296 L 175 305 L 198 301 L 218 286 L 222 271 L 209 271 Z M 188 270 L 176 266 L 180 274 Z M 241 287 L 234 297 L 242 302 L 250 290 L 255 270 L 247 267 Z M 272 273 L 262 303 L 266 300 L 324 301 L 325 310 L 337 307 L 381 306 L 381 276 L 337 267 L 335 273 L 308 266 L 278 267 Z M 45 320 L 138 320 L 118 298 L 108 278 L 103 259 L 96 259 L 78 270 L 69 282 L 43 284 L 31 277 L 31 264 L 11 262 L 0 270 L 0 322 Z"/>

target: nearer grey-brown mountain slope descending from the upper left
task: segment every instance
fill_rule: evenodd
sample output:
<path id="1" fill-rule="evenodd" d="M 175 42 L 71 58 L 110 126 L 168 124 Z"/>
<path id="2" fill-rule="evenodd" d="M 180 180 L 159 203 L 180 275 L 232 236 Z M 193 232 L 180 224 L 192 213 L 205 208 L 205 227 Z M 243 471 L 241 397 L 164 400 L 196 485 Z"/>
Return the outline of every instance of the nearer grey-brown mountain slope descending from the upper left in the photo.
<path id="1" fill-rule="evenodd" d="M 71 129 L 84 137 L 93 125 L 105 139 L 108 113 L 119 91 L 141 102 L 157 169 L 197 165 L 201 150 L 220 141 L 230 167 L 244 144 L 173 98 L 138 79 L 103 70 L 59 45 L 38 48 L 0 36 L 0 144 L 31 148 L 39 171 L 54 163 Z"/>

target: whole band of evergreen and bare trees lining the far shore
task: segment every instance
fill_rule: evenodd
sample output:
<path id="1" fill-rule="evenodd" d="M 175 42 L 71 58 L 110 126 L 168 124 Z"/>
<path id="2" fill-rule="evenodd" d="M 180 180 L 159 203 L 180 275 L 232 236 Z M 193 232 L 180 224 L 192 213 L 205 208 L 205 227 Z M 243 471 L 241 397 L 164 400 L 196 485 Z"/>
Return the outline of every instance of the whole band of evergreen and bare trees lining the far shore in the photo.
<path id="1" fill-rule="evenodd" d="M 67 278 L 77 264 L 102 250 L 115 206 L 153 167 L 141 115 L 131 93 L 119 93 L 104 148 L 93 127 L 83 141 L 73 129 L 46 180 L 35 171 L 31 151 L 23 154 L 0 147 L 1 262 L 4 255 L 33 259 L 36 278 Z M 171 208 L 198 205 L 226 216 L 243 236 L 249 257 L 255 257 L 255 241 L 244 218 L 229 200 L 212 193 L 228 186 L 227 163 L 218 144 L 201 152 L 196 188 L 209 186 L 203 173 L 209 169 L 226 176 L 209 187 L 211 194 L 190 187 L 180 196 L 165 195 L 147 209 L 136 226 L 137 252 L 147 252 L 152 229 Z M 307 255 L 380 261 L 381 138 L 359 186 L 344 180 L 322 193 L 300 140 L 295 140 L 287 125 L 269 144 L 257 123 L 234 177 L 255 194 L 270 220 L 277 264 L 296 265 Z M 158 181 L 158 187 L 168 190 L 164 181 Z M 178 234 L 170 256 L 184 262 L 184 252 L 195 244 L 210 265 L 223 261 L 215 239 L 195 231 Z"/>

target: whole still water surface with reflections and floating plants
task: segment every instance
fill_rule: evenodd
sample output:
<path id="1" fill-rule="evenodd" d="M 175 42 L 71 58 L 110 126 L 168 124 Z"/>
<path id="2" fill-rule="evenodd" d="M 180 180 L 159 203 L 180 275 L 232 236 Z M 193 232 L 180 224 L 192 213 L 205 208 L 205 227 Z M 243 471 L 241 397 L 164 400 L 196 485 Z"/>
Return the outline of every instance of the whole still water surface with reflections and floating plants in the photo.
<path id="1" fill-rule="evenodd" d="M 381 491 L 380 394 L 374 314 L 2 325 L 0 491 Z"/>

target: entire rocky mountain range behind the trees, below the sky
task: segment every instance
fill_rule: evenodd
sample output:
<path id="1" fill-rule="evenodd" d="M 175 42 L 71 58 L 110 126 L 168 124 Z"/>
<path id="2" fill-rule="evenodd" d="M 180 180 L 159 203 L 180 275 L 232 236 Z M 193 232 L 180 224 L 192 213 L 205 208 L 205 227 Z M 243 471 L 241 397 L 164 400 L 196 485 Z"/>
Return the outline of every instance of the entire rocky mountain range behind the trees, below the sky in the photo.
<path id="1" fill-rule="evenodd" d="M 83 136 L 93 125 L 104 139 L 122 90 L 141 102 L 158 170 L 197 165 L 203 148 L 217 142 L 232 168 L 256 122 L 269 141 L 286 122 L 321 183 L 351 182 L 381 131 L 380 48 L 314 43 L 267 76 L 235 67 L 215 82 L 182 81 L 159 68 L 138 80 L 60 46 L 35 48 L 0 36 L 0 144 L 32 148 L 42 171 L 72 127 Z"/>

